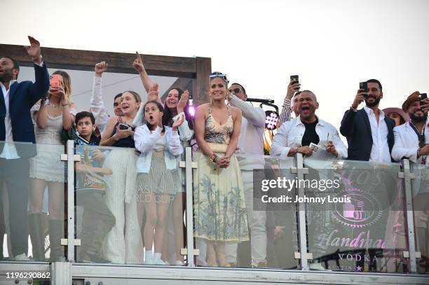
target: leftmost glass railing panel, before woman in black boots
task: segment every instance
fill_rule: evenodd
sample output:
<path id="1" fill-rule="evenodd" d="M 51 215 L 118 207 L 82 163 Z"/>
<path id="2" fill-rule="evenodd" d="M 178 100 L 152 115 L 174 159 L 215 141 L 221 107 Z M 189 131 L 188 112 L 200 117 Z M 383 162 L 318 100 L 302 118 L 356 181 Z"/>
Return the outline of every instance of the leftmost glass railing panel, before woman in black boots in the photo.
<path id="1" fill-rule="evenodd" d="M 62 145 L 0 142 L 0 259 L 66 260 Z"/>

